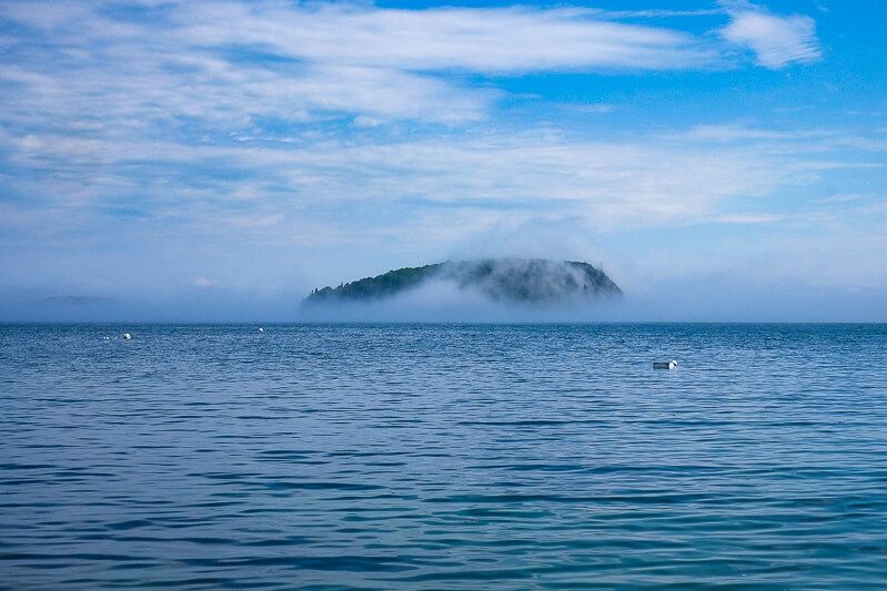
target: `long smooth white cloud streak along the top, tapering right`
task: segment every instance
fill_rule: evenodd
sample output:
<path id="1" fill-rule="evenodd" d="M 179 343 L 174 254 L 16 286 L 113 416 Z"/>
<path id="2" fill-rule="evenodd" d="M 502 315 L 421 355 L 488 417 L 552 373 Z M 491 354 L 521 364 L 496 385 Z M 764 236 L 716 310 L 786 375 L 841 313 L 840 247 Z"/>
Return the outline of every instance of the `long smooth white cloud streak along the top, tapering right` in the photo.
<path id="1" fill-rule="evenodd" d="M 681 31 L 626 24 L 583 9 L 356 4 L 188 4 L 179 22 L 193 42 L 242 43 L 322 63 L 402 70 L 534 70 L 708 65 L 717 53 Z"/>

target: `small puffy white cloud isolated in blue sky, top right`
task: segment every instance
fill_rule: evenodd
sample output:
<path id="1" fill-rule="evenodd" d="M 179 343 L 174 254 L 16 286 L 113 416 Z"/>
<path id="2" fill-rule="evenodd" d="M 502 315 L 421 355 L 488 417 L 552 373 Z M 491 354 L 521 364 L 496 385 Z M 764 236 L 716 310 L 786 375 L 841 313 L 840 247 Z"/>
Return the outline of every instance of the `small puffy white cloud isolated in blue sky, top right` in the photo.
<path id="1" fill-rule="evenodd" d="M 750 48 L 757 62 L 770 69 L 806 63 L 822 57 L 816 22 L 802 14 L 779 17 L 752 4 L 730 10 L 732 21 L 720 33 L 727 41 Z"/>

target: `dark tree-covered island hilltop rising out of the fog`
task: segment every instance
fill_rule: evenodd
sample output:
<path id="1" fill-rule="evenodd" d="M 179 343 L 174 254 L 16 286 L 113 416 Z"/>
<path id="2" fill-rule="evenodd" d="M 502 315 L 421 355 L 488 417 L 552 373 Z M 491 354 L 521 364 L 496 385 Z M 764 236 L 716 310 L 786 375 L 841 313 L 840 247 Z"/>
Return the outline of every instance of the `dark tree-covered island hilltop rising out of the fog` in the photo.
<path id="1" fill-rule="evenodd" d="M 392 297 L 430 281 L 453 282 L 477 289 L 493 300 L 554 303 L 616 296 L 622 289 L 599 268 L 577 261 L 543 258 L 485 258 L 435 263 L 390 271 L 375 277 L 314 289 L 309 304 L 371 302 Z"/>

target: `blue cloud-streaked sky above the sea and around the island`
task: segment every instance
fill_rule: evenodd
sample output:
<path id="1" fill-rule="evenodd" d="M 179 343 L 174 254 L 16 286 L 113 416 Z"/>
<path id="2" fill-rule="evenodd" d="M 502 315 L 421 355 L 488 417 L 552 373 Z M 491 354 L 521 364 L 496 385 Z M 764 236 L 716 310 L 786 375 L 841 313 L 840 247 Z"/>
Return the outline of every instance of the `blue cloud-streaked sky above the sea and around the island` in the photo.
<path id="1" fill-rule="evenodd" d="M 0 320 L 298 319 L 447 258 L 887 322 L 878 0 L 0 3 Z M 603 316 L 602 316 L 603 318 Z"/>

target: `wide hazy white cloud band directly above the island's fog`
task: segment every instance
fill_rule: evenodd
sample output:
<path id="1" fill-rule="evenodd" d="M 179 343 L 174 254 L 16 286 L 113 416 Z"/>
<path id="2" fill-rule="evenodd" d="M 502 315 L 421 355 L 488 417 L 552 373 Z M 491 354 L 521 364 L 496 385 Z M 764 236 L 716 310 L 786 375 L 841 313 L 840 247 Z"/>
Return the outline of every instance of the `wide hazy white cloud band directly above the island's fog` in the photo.
<path id="1" fill-rule="evenodd" d="M 200 220 L 219 231 L 261 231 L 265 237 L 322 212 L 339 212 L 345 225 L 362 224 L 361 207 L 394 207 L 407 216 L 429 207 L 485 211 L 485 222 L 513 214 L 570 216 L 613 230 L 769 221 L 742 213 L 743 200 L 810 185 L 831 169 L 866 165 L 836 159 L 829 146 L 840 147 L 844 140 L 818 133 L 816 141 L 798 141 L 808 136 L 755 130 L 736 134 L 742 142 L 723 143 L 719 133 L 584 141 L 457 132 L 410 141 L 298 137 L 245 145 L 78 142 L 47 134 L 11 141 L 9 157 L 49 173 L 19 190 L 60 206 L 94 207 L 127 194 L 135 203 L 147 200 L 151 217 L 164 224 Z M 138 180 L 129 176 L 133 170 Z M 400 224 L 393 220 L 390 227 Z"/>

